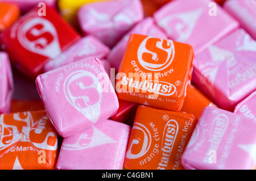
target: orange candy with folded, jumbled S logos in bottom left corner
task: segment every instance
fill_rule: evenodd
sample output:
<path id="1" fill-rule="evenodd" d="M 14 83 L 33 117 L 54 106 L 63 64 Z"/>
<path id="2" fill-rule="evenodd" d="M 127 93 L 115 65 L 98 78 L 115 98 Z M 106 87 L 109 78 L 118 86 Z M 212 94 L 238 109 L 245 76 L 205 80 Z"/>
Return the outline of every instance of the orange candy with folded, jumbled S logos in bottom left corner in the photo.
<path id="1" fill-rule="evenodd" d="M 0 169 L 54 169 L 58 139 L 46 111 L 0 115 Z"/>

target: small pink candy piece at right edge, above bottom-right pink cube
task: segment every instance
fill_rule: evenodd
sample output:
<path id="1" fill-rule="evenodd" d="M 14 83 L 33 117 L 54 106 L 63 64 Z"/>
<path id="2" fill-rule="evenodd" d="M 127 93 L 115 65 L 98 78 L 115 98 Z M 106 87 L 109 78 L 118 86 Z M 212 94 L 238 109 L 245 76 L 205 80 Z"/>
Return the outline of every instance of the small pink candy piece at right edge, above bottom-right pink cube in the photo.
<path id="1" fill-rule="evenodd" d="M 237 104 L 234 113 L 256 120 L 256 91 Z"/>

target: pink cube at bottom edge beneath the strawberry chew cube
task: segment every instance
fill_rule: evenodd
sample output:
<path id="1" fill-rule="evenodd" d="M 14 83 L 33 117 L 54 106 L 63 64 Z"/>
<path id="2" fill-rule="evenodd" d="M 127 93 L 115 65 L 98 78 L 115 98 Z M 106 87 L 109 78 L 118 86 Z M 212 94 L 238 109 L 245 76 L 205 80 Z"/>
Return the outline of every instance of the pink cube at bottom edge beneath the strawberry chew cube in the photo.
<path id="1" fill-rule="evenodd" d="M 130 126 L 105 120 L 63 139 L 58 170 L 122 170 Z"/>

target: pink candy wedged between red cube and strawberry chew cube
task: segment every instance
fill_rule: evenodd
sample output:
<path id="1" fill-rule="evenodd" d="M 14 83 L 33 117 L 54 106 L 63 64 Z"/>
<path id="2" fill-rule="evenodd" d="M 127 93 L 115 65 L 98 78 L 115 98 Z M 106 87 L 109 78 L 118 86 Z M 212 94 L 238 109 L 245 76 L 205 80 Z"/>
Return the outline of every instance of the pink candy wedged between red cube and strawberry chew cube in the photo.
<path id="1" fill-rule="evenodd" d="M 101 43 L 100 40 L 96 39 L 96 37 L 85 36 L 71 45 L 71 47 L 63 53 L 60 53 L 56 58 L 48 61 L 46 65 L 44 65 L 44 71 L 47 72 L 86 57 L 105 58 L 108 56 L 109 52 L 110 49 Z"/>

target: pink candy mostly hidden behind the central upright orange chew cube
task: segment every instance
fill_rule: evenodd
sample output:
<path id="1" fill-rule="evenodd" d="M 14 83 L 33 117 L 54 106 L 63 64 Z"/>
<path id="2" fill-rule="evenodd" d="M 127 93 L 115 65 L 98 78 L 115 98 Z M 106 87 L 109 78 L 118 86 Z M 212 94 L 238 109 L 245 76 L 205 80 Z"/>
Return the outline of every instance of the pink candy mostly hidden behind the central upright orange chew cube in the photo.
<path id="1" fill-rule="evenodd" d="M 123 54 L 125 53 L 126 44 L 131 34 L 142 34 L 157 36 L 160 38 L 167 38 L 166 34 L 154 23 L 151 17 L 144 18 L 141 22 L 137 23 L 122 39 L 111 49 L 108 60 L 116 71 L 122 61 Z"/>

